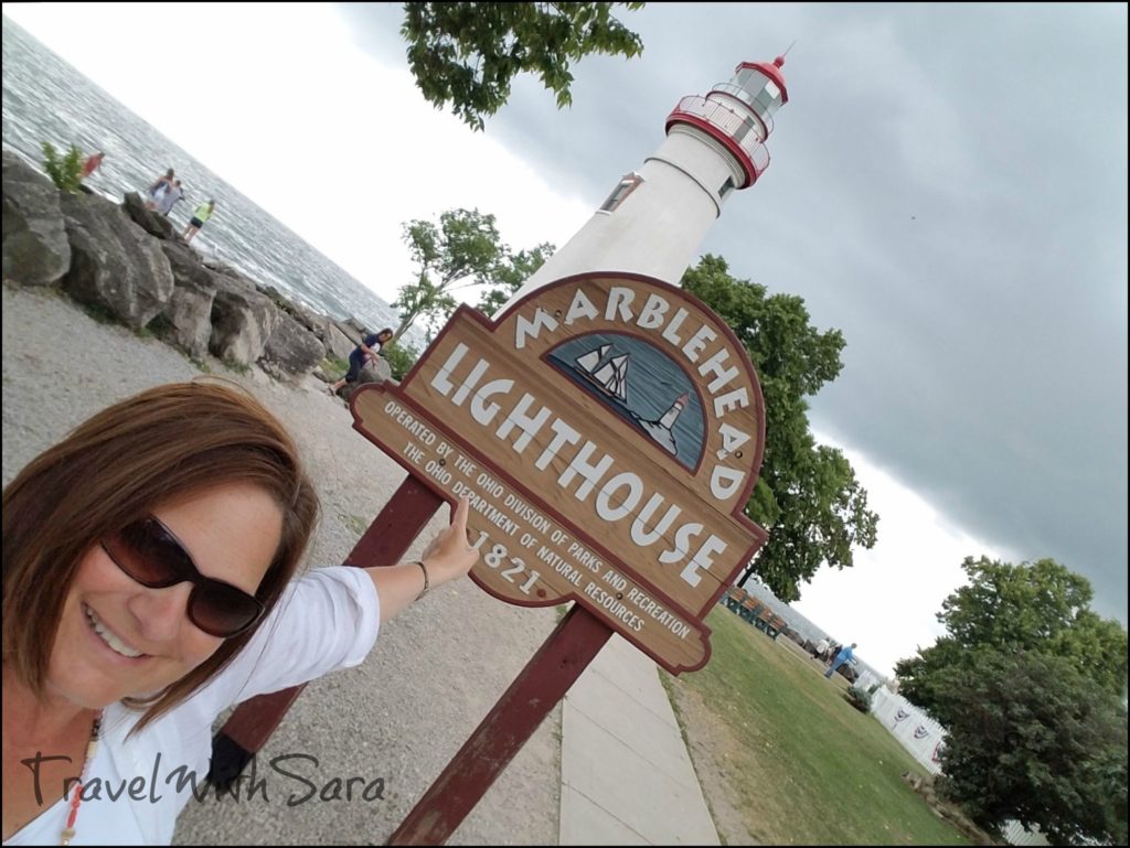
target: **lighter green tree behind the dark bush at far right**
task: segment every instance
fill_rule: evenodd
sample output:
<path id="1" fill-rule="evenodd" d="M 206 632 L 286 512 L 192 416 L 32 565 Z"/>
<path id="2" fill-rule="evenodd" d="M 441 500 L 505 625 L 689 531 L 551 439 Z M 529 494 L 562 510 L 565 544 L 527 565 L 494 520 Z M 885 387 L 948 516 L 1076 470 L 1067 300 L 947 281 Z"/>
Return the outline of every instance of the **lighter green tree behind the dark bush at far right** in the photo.
<path id="1" fill-rule="evenodd" d="M 1090 583 L 1051 559 L 1019 566 L 966 557 L 968 584 L 938 613 L 947 635 L 901 659 L 901 692 L 942 724 L 948 673 L 980 662 L 983 653 L 1034 652 L 1057 656 L 1115 697 L 1127 687 L 1127 632 L 1089 609 Z"/>

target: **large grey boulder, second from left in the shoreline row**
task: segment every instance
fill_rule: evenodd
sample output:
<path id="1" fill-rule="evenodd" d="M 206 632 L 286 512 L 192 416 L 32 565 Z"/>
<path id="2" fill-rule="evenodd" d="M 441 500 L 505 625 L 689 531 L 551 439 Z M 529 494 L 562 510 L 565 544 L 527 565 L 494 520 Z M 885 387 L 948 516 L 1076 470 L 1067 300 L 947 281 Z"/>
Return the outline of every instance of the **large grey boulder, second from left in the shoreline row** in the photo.
<path id="1" fill-rule="evenodd" d="M 173 271 L 158 243 L 97 195 L 64 193 L 60 204 L 71 246 L 67 291 L 134 329 L 153 321 L 173 294 Z"/>

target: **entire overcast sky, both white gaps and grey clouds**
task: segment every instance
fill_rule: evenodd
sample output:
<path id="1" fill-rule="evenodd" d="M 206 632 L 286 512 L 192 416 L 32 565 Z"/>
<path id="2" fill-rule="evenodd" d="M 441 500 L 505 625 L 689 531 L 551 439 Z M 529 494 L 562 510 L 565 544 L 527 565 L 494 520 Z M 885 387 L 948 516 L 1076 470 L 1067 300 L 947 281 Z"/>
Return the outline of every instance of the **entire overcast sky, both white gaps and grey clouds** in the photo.
<path id="1" fill-rule="evenodd" d="M 846 339 L 811 422 L 880 541 L 798 609 L 889 670 L 984 553 L 1058 560 L 1125 624 L 1125 5 L 654 3 L 620 14 L 642 58 L 575 65 L 567 111 L 520 79 L 478 134 L 415 89 L 399 5 L 266 8 L 5 14 L 386 300 L 402 221 L 478 207 L 560 246 L 679 97 L 796 41 L 772 164 L 703 252 Z"/>

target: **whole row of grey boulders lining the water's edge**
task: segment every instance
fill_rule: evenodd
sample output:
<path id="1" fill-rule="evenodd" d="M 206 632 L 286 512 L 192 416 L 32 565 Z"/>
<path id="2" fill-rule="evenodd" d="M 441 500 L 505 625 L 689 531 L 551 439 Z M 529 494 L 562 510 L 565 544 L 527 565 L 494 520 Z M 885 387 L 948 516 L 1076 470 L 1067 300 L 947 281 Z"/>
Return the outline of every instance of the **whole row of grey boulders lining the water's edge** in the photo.
<path id="1" fill-rule="evenodd" d="M 293 303 L 236 269 L 201 261 L 173 225 L 136 193 L 120 206 L 59 191 L 19 156 L 3 151 L 3 279 L 58 287 L 133 330 L 153 333 L 194 360 L 211 355 L 237 368 L 258 364 L 277 378 L 344 360 L 365 327 Z M 373 369 L 362 382 L 380 379 Z"/>

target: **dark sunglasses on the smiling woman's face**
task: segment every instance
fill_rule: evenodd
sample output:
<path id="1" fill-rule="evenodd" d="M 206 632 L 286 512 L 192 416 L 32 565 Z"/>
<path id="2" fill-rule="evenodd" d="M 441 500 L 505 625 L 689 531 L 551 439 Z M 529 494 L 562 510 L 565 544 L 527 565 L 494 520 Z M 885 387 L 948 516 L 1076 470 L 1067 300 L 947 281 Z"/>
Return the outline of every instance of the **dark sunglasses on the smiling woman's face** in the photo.
<path id="1" fill-rule="evenodd" d="M 151 515 L 108 534 L 101 544 L 120 569 L 147 588 L 192 583 L 189 620 L 210 636 L 238 636 L 263 614 L 259 598 L 201 575 L 181 541 Z"/>

